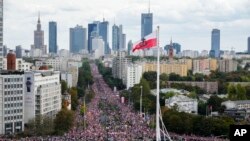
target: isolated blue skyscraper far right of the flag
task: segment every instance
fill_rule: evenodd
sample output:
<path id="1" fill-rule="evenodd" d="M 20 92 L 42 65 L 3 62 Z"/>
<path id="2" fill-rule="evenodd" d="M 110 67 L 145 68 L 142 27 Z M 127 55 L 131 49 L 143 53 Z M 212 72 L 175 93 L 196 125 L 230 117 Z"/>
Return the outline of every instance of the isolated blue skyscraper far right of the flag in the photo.
<path id="1" fill-rule="evenodd" d="M 220 30 L 219 29 L 212 30 L 210 56 L 215 57 L 215 58 L 220 57 Z"/>

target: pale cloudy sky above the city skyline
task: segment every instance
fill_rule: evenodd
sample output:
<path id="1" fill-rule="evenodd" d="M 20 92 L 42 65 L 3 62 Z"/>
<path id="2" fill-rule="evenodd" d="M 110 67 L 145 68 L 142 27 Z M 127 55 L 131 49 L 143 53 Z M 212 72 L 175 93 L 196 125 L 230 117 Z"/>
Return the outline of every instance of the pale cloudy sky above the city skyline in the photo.
<path id="1" fill-rule="evenodd" d="M 56 21 L 59 49 L 69 50 L 69 28 L 103 18 L 122 24 L 127 42 L 140 40 L 141 13 L 148 12 L 149 0 L 4 0 L 4 45 L 14 49 L 33 44 L 40 11 L 45 44 L 48 22 Z M 160 26 L 160 46 L 180 43 L 182 50 L 210 50 L 211 31 L 221 30 L 221 50 L 247 50 L 250 36 L 250 0 L 151 0 L 153 28 Z"/>

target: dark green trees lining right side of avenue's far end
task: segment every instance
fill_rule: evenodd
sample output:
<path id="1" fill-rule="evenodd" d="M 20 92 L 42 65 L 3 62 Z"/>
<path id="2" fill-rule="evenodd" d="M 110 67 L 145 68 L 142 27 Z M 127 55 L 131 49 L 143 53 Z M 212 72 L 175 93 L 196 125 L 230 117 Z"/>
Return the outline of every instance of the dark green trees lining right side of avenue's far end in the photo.
<path id="1" fill-rule="evenodd" d="M 104 67 L 102 62 L 96 60 L 96 64 L 98 66 L 99 72 L 102 74 L 105 82 L 109 85 L 111 89 L 116 87 L 118 90 L 125 89 L 125 85 L 122 83 L 122 80 L 119 78 L 114 78 L 112 76 L 112 69 L 108 67 Z"/>

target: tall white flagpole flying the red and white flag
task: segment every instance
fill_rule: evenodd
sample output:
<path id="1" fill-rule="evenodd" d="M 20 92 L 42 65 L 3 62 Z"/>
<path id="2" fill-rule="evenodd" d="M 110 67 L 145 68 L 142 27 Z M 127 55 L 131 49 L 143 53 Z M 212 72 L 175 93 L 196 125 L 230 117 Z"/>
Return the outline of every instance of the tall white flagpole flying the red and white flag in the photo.
<path id="1" fill-rule="evenodd" d="M 159 93 L 160 93 L 160 46 L 159 46 L 159 31 L 160 27 L 157 26 L 157 87 L 156 87 L 156 141 L 161 140 L 160 131 L 160 103 L 159 103 Z"/>

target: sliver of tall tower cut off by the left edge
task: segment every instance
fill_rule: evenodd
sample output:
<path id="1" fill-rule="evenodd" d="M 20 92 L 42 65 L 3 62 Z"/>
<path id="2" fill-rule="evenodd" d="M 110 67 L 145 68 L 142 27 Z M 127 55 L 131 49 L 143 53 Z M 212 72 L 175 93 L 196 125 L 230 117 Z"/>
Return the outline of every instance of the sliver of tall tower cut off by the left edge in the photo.
<path id="1" fill-rule="evenodd" d="M 3 0 L 0 0 L 0 70 L 3 69 Z"/>

